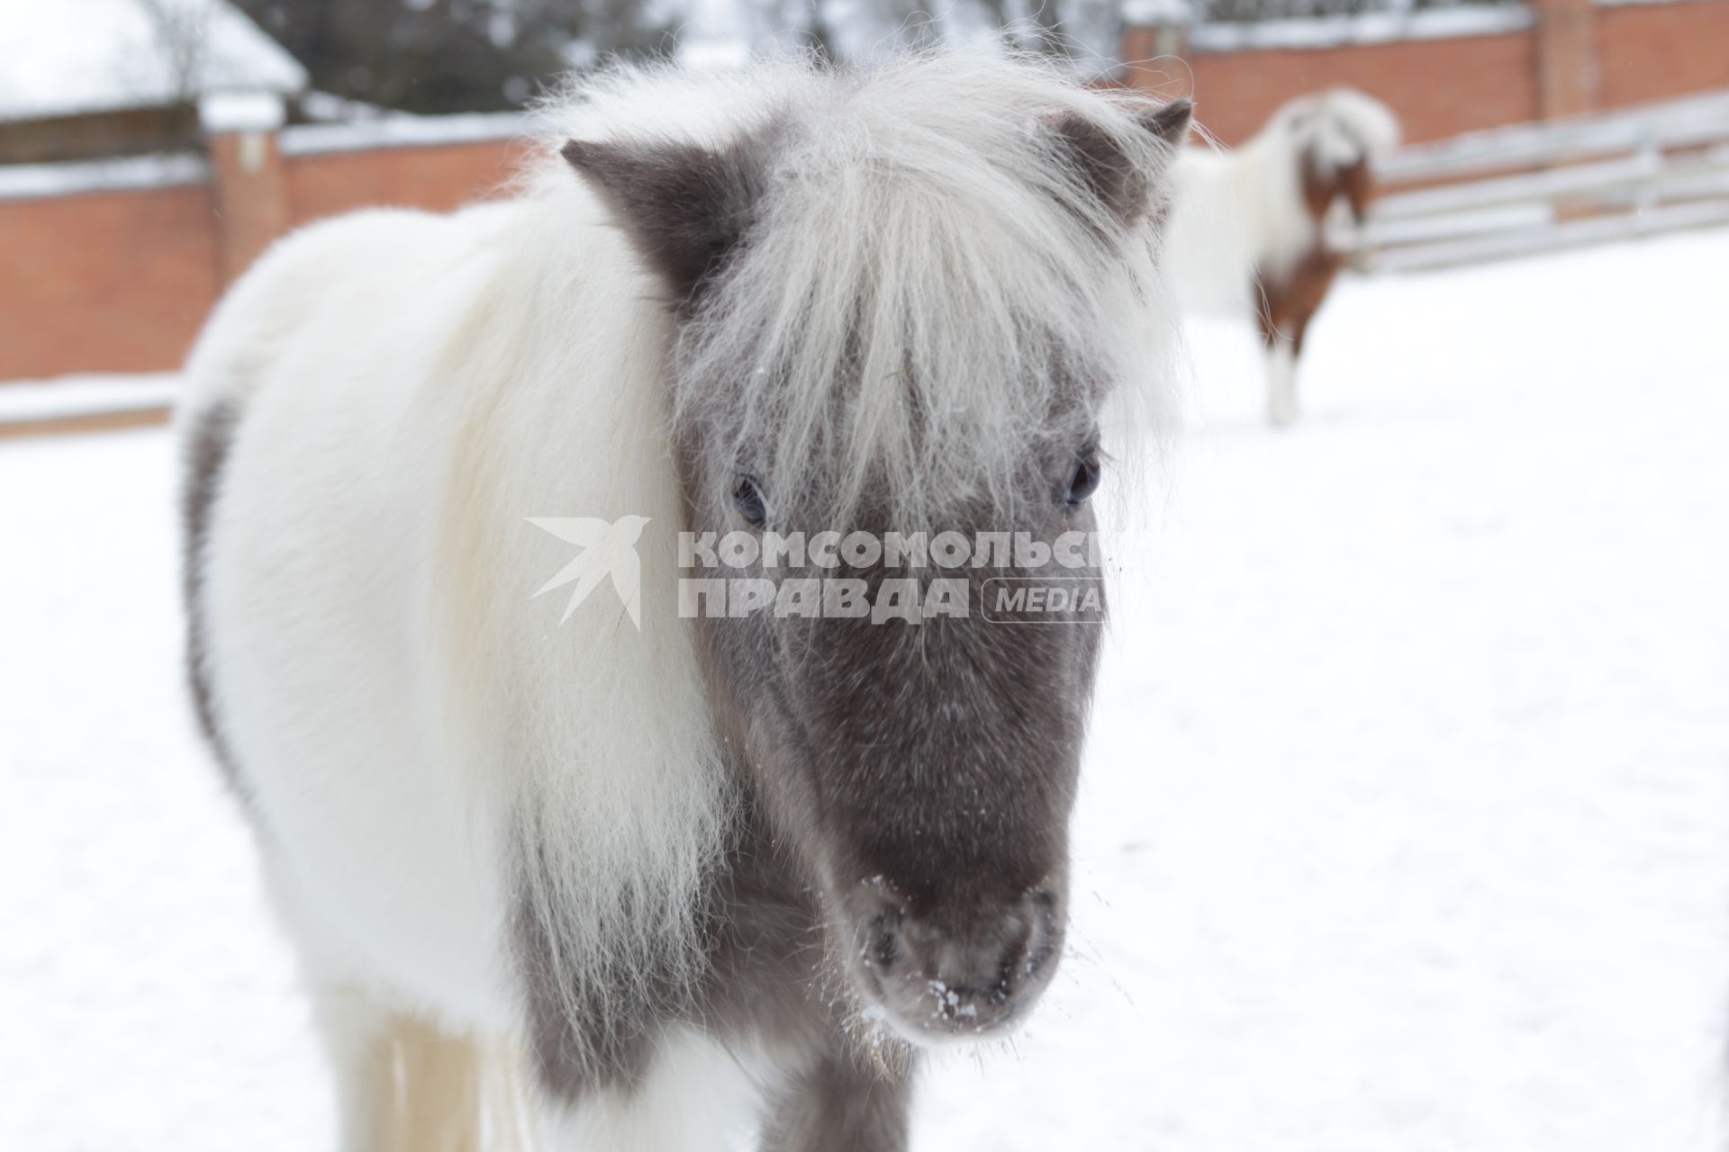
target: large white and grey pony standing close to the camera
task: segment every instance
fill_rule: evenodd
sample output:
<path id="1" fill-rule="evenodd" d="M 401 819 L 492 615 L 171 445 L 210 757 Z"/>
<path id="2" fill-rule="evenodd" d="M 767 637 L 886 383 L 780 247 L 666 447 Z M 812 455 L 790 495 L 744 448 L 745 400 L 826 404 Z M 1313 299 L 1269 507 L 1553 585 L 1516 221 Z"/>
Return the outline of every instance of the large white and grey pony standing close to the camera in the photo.
<path id="1" fill-rule="evenodd" d="M 346 1149 L 901 1149 L 916 1047 L 1030 1010 L 1098 618 L 986 598 L 1056 554 L 1098 603 L 1065 541 L 1160 363 L 1188 123 L 986 54 L 617 71 L 515 199 L 228 294 L 192 684 Z M 716 537 L 749 598 L 679 579 Z"/>

